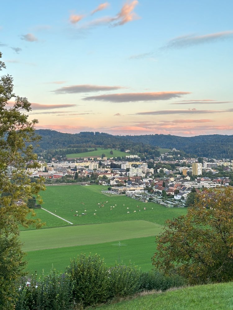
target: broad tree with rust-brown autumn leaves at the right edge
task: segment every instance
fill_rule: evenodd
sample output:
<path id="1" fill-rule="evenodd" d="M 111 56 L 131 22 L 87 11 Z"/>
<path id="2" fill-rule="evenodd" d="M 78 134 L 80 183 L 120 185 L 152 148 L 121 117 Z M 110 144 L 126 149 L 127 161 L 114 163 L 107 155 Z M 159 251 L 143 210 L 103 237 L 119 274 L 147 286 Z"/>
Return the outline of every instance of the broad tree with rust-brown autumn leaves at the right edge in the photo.
<path id="1" fill-rule="evenodd" d="M 233 188 L 205 190 L 186 216 L 167 220 L 153 264 L 190 284 L 233 280 Z"/>

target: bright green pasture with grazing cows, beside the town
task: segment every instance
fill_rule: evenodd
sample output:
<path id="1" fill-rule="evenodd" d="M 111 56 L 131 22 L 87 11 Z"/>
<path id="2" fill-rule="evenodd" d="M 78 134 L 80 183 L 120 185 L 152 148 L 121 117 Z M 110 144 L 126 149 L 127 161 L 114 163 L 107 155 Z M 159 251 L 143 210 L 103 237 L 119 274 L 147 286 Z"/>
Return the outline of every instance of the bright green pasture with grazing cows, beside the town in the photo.
<path id="1" fill-rule="evenodd" d="M 44 201 L 42 207 L 75 225 L 127 220 L 144 220 L 163 225 L 166 219 L 184 215 L 187 212 L 185 208 L 166 208 L 156 203 L 144 203 L 123 195 L 107 197 L 101 193 L 103 188 L 106 189 L 105 186 L 99 185 L 48 186 L 46 191 L 41 193 Z M 114 206 L 112 210 L 111 206 Z M 46 227 L 70 225 L 43 210 L 36 212 L 38 217 L 47 223 Z M 82 213 L 86 215 L 74 216 Z"/>

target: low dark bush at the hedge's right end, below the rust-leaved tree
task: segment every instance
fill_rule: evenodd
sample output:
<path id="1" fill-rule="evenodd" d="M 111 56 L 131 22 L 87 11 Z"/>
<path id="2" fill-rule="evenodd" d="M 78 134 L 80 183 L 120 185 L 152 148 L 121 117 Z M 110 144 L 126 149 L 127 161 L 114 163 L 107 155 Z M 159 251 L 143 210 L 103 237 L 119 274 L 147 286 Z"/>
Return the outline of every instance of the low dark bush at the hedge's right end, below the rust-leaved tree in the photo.
<path id="1" fill-rule="evenodd" d="M 171 287 L 179 287 L 185 285 L 184 278 L 177 275 L 166 276 L 158 270 L 142 272 L 140 281 L 140 290 L 164 291 Z"/>

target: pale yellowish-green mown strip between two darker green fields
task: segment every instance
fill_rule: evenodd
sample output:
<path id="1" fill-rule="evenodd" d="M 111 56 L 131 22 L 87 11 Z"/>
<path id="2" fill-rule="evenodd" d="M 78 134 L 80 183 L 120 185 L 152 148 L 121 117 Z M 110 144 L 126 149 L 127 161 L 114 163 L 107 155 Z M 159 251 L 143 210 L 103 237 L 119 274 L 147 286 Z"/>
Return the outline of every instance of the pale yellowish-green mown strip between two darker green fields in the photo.
<path id="1" fill-rule="evenodd" d="M 20 238 L 23 250 L 33 251 L 155 236 L 161 228 L 147 221 L 125 221 L 27 230 L 21 232 Z"/>

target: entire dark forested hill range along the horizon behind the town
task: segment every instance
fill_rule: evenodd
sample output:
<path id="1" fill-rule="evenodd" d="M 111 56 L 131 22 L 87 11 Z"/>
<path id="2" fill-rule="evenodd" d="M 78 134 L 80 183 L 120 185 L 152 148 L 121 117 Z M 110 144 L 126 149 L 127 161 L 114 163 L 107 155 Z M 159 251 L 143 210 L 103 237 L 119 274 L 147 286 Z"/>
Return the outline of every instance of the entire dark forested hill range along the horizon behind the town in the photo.
<path id="1" fill-rule="evenodd" d="M 233 159 L 233 135 L 200 135 L 180 137 L 175 135 L 109 135 L 100 132 L 80 132 L 67 134 L 49 129 L 39 129 L 42 137 L 36 152 L 62 148 L 119 148 L 130 149 L 131 153 L 149 153 L 155 156 L 159 148 L 176 148 L 187 154 L 208 158 Z"/>

